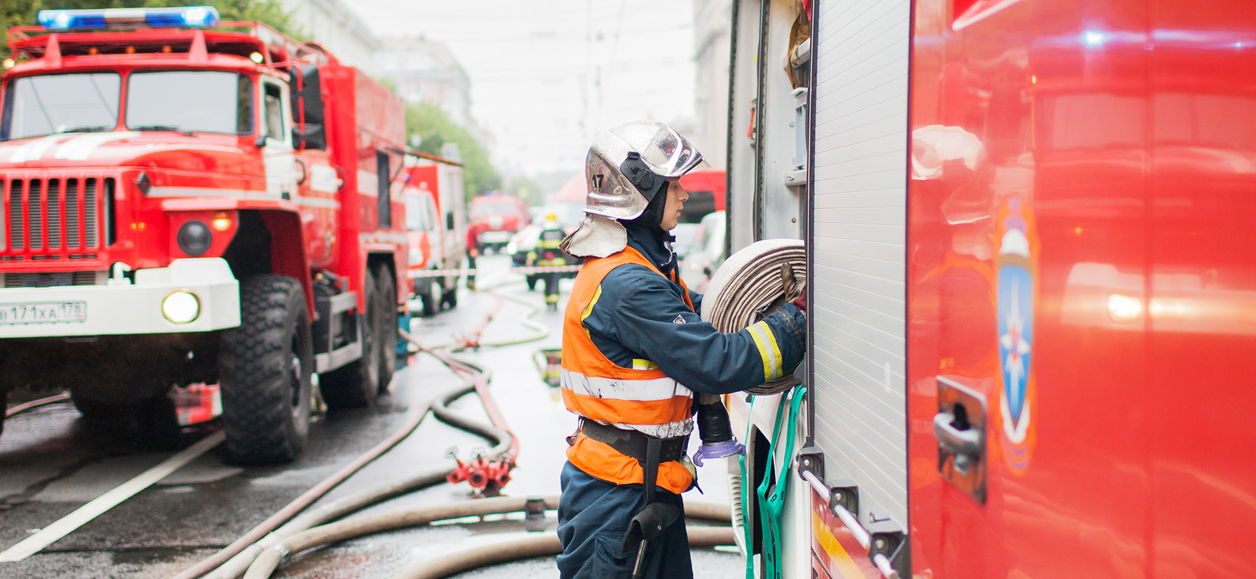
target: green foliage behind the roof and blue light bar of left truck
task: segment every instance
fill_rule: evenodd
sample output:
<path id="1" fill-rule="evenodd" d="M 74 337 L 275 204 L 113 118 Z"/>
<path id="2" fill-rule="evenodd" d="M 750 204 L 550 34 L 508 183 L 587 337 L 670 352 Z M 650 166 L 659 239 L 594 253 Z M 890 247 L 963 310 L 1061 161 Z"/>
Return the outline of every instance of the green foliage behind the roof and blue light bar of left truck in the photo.
<path id="1" fill-rule="evenodd" d="M 0 0 L 0 26 L 35 26 L 40 10 L 87 10 L 102 8 L 214 6 L 222 20 L 260 20 L 290 36 L 299 36 L 291 15 L 279 0 Z M 0 53 L 9 56 L 9 35 L 0 38 Z"/>

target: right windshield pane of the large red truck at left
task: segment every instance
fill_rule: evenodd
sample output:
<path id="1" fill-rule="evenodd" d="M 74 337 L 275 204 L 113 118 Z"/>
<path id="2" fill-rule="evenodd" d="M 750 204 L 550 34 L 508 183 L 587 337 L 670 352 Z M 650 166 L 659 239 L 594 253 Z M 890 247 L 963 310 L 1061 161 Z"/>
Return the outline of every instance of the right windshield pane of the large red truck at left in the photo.
<path id="1" fill-rule="evenodd" d="M 217 70 L 132 73 L 127 128 L 197 133 L 252 133 L 252 80 Z"/>

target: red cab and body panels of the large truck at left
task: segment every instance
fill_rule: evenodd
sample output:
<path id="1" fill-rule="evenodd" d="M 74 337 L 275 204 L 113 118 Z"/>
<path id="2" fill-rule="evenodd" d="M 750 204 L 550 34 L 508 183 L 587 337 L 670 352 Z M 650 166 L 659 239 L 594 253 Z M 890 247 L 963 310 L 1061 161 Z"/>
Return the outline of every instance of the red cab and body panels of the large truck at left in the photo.
<path id="1" fill-rule="evenodd" d="M 288 80 L 286 74 L 276 73 L 285 70 L 288 65 L 270 63 L 296 60 L 296 53 L 288 51 L 293 46 L 291 41 L 285 44 L 278 33 L 252 23 L 222 23 L 222 26 L 251 26 L 252 31 L 147 29 L 45 34 L 40 28 L 14 28 L 10 29 L 14 49 L 36 58 L 10 69 L 5 74 L 5 81 L 8 85 L 14 78 L 50 71 L 117 71 L 126 79 L 127 74 L 139 69 L 226 70 L 245 74 L 255 81 L 266 75 Z M 197 36 L 203 40 L 197 40 Z M 271 38 L 273 41 L 265 43 L 261 38 Z M 149 50 L 154 43 L 171 50 Z M 198 53 L 197 43 L 205 43 L 210 51 Z M 49 48 L 51 44 L 58 46 L 55 53 Z M 126 54 L 121 50 L 122 46 L 146 49 Z M 88 53 L 95 48 L 100 48 L 102 53 Z M 251 50 L 265 55 L 261 65 L 242 56 Z M 276 261 L 275 271 L 301 279 L 311 310 L 310 274 L 311 271 L 323 268 L 347 277 L 350 281 L 347 290 L 357 291 L 359 307 L 363 306 L 362 272 L 369 253 L 391 254 L 394 271 L 406 271 L 404 204 L 399 198 L 403 179 L 392 180 L 392 223 L 382 226 L 378 222 L 377 184 L 359 183 L 362 173 L 373 178 L 377 154 L 387 155 L 393 175 L 399 172 L 404 152 L 404 105 L 386 86 L 352 66 L 340 65 L 333 56 L 324 54 L 320 63 L 328 150 L 293 153 L 305 174 L 295 190 L 286 192 L 284 197 L 268 196 L 265 157 L 271 152 L 254 147 L 255 138 L 251 135 L 123 133 L 126 125 L 119 114 L 116 132 L 62 134 L 4 143 L 0 145 L 0 169 L 14 182 L 23 175 L 28 180 L 54 179 L 62 173 L 63 179 L 82 174 L 84 179 L 97 177 L 104 183 L 104 179 L 112 178 L 113 206 L 107 208 L 108 199 L 98 198 L 95 211 L 99 216 L 113 212 L 111 217 L 114 224 L 102 226 L 100 234 L 106 236 L 103 229 L 108 227 L 114 227 L 116 233 L 114 237 L 102 239 L 97 248 L 84 248 L 80 243 L 79 247 L 65 246 L 53 251 L 46 239 L 43 248 L 33 248 L 34 243 L 26 243 L 18 249 L 8 243 L 0 249 L 0 259 L 4 259 L 0 268 L 9 272 L 63 271 L 67 263 L 64 259 L 74 259 L 74 267 L 79 269 L 107 269 L 109 263 L 118 261 L 133 268 L 165 267 L 171 259 L 188 257 L 171 239 L 178 224 L 193 217 L 190 212 L 203 218 L 212 217 L 215 212 L 264 209 L 268 211 L 268 228 L 286 232 L 284 239 L 276 239 L 271 248 Z M 123 80 L 119 110 L 126 107 L 126 91 L 127 83 Z M 260 110 L 259 100 L 255 89 L 255 110 Z M 102 142 L 80 155 L 83 158 L 58 154 L 75 144 L 90 144 L 92 139 Z M 26 153 L 18 154 L 24 147 Z M 33 147 L 41 154 L 30 154 Z M 314 179 L 309 172 L 314 165 L 335 170 L 342 179 L 339 192 L 320 192 L 311 187 Z M 24 169 L 30 170 L 29 175 Z M 177 198 L 146 196 L 136 187 L 141 173 L 158 190 L 200 189 L 206 194 L 180 193 Z M 6 194 L 4 203 L 5 214 L 34 214 L 31 212 L 39 211 L 38 207 L 31 209 L 29 192 L 25 197 L 19 196 L 16 203 L 14 197 Z M 84 214 L 85 207 L 78 213 L 79 226 L 85 228 L 87 224 L 82 223 Z M 48 231 L 45 224 L 45 237 Z M 11 231 L 9 233 L 16 234 Z M 234 229 L 224 233 L 229 234 L 216 236 L 211 251 L 198 257 L 220 256 Z M 298 238 L 300 243 L 289 242 Z M 83 241 L 85 242 L 85 236 Z M 407 295 L 404 276 L 397 278 L 398 297 L 403 298 Z"/>

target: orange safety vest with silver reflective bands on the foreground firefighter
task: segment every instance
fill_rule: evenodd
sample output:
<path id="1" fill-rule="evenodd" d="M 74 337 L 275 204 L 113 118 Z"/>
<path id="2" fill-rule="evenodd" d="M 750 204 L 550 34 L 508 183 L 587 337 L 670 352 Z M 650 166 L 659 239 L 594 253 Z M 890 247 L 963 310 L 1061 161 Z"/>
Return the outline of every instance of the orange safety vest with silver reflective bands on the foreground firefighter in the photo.
<path id="1" fill-rule="evenodd" d="M 683 436 L 693 431 L 693 392 L 648 360 L 633 360 L 631 368 L 615 365 L 598 350 L 584 328 L 584 318 L 602 297 L 602 279 L 628 263 L 646 266 L 663 276 L 641 252 L 625 247 L 609 257 L 584 262 L 575 277 L 563 321 L 563 402 L 587 420 L 651 436 Z M 677 276 L 667 278 L 681 284 L 685 303 L 693 310 L 685 282 Z M 566 449 L 566 460 L 590 476 L 617 485 L 641 484 L 644 477 L 636 459 L 583 432 Z M 656 484 L 679 494 L 690 489 L 693 476 L 679 461 L 663 462 L 658 465 Z"/>

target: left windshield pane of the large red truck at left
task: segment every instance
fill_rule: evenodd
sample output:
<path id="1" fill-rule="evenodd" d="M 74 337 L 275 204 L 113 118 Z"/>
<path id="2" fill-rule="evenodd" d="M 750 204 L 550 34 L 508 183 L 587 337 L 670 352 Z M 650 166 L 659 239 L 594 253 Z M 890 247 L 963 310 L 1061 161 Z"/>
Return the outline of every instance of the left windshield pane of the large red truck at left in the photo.
<path id="1" fill-rule="evenodd" d="M 9 83 L 0 139 L 113 130 L 118 124 L 117 73 L 45 74 Z"/>

